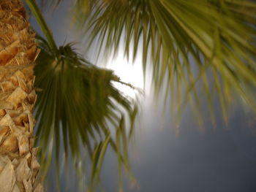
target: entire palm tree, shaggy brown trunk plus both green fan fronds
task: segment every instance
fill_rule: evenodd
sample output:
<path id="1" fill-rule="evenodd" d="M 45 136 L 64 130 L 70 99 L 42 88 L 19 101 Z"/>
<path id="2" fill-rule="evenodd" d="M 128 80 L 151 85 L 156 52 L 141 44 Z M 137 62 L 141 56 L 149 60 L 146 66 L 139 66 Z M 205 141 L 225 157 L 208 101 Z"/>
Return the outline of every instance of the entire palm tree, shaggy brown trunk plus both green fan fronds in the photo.
<path id="1" fill-rule="evenodd" d="M 20 23 L 24 22 L 23 19 L 22 22 L 18 20 L 19 24 L 15 23 L 15 19 L 13 19 L 25 18 L 20 1 L 0 2 L 1 9 L 5 11 L 3 15 L 12 15 L 11 17 L 2 16 L 1 23 L 5 23 L 6 26 L 8 24 L 16 26 L 18 30 L 24 28 L 20 26 Z M 37 76 L 35 83 L 39 88 L 36 107 L 36 118 L 39 125 L 37 137 L 38 145 L 42 147 L 43 170 L 46 171 L 50 166 L 53 150 L 55 150 L 57 169 L 60 154 L 64 154 L 66 161 L 69 160 L 68 157 L 71 154 L 79 173 L 80 162 L 83 158 L 81 150 L 86 149 L 92 162 L 91 180 L 93 182 L 91 187 L 94 188 L 94 181 L 99 180 L 97 173 L 102 166 L 108 145 L 116 151 L 120 166 L 122 164 L 129 169 L 127 141 L 132 135 L 133 128 L 130 128 L 127 135 L 124 126 L 127 120 L 130 120 L 131 124 L 133 123 L 137 107 L 113 87 L 111 82 L 120 82 L 113 72 L 99 69 L 90 64 L 89 61 L 75 53 L 72 44 L 57 47 L 35 2 L 33 0 L 26 0 L 26 2 L 39 21 L 46 37 L 46 40 L 42 37 L 37 38 L 41 53 L 35 66 Z M 59 1 L 52 2 L 59 3 Z M 79 18 L 80 27 L 85 28 L 87 33 L 91 32 L 89 46 L 97 39 L 99 52 L 102 47 L 105 47 L 106 50 L 114 50 L 115 54 L 118 47 L 123 46 L 127 57 L 132 50 L 132 57 L 135 58 L 138 55 L 141 41 L 143 69 L 146 72 L 149 64 L 153 67 L 155 93 L 159 93 L 161 89 L 165 90 L 166 96 L 171 93 L 172 99 L 175 101 L 173 108 L 175 108 L 174 110 L 178 109 L 178 113 L 182 112 L 184 109 L 182 106 L 188 101 L 191 101 L 195 110 L 199 111 L 198 95 L 205 94 L 214 123 L 211 90 L 217 93 L 225 119 L 227 119 L 227 107 L 233 93 L 241 96 L 247 104 L 252 106 L 252 109 L 256 109 L 252 91 L 256 82 L 255 9 L 256 5 L 252 1 L 241 0 L 192 0 L 189 2 L 184 0 L 78 0 L 75 1 L 74 15 Z M 27 23 L 24 25 L 28 26 Z M 4 26 L 1 27 L 1 30 L 5 30 Z M 24 31 L 31 30 L 26 28 Z M 2 98 L 5 98 L 5 100 L 1 99 L 1 102 L 4 107 L 10 107 L 8 104 L 14 103 L 12 109 L 3 108 L 2 114 L 4 115 L 0 122 L 5 123 L 4 117 L 8 117 L 8 112 L 12 112 L 12 115 L 9 116 L 13 122 L 16 122 L 16 118 L 21 119 L 21 125 L 20 122 L 15 123 L 15 126 L 20 128 L 17 130 L 26 130 L 26 126 L 29 126 L 30 134 L 23 131 L 22 137 L 20 134 L 13 135 L 10 124 L 1 125 L 1 133 L 3 133 L 1 134 L 1 148 L 4 149 L 1 150 L 3 151 L 1 152 L 1 165 L 4 168 L 2 171 L 0 170 L 0 185 L 5 187 L 6 191 L 12 191 L 14 188 L 15 190 L 19 188 L 22 191 L 23 188 L 26 189 L 26 186 L 32 186 L 34 189 L 37 186 L 39 186 L 37 188 L 42 188 L 42 185 L 35 184 L 34 175 L 39 165 L 34 158 L 35 150 L 29 143 L 33 140 L 31 138 L 31 127 L 33 127 L 31 126 L 33 124 L 31 124 L 33 122 L 31 109 L 33 106 L 24 108 L 29 109 L 30 113 L 20 110 L 20 107 L 28 105 L 26 101 L 29 104 L 34 104 L 35 94 L 32 91 L 33 75 L 30 64 L 34 62 L 38 52 L 34 46 L 33 34 L 29 32 L 29 35 L 25 36 L 26 38 L 23 38 L 23 35 L 13 35 L 19 33 L 24 32 L 10 31 L 12 34 L 10 37 L 7 35 L 1 37 L 1 39 L 5 38 L 1 44 L 4 49 L 0 55 L 2 58 L 0 60 L 1 74 L 3 74 Z M 124 39 L 123 45 L 121 38 Z M 29 42 L 28 45 L 20 46 L 18 44 L 26 42 L 25 40 Z M 22 49 L 18 47 L 22 47 Z M 23 50 L 25 47 L 28 48 Z M 15 57 L 15 55 L 18 56 Z M 16 71 L 12 72 L 10 67 L 3 67 L 4 64 L 10 62 L 14 66 L 14 64 L 18 65 L 25 61 L 29 62 L 27 65 L 29 65 L 30 71 L 27 69 L 28 67 L 25 68 L 26 64 L 24 64 L 24 69 L 20 67 L 22 65 L 19 65 L 13 67 L 13 70 L 17 69 L 18 74 L 22 72 L 26 78 L 21 78 Z M 18 81 L 16 84 L 12 82 L 15 78 Z M 202 89 L 198 88 L 198 84 L 202 85 Z M 28 89 L 23 89 L 23 85 Z M 22 99 L 13 99 L 16 98 L 16 95 L 12 96 L 12 93 L 15 93 L 16 90 L 20 93 L 23 90 Z M 118 110 L 116 104 L 124 107 L 124 110 Z M 28 115 L 21 118 L 24 113 Z M 126 118 L 125 113 L 129 118 Z M 198 120 L 202 121 L 200 113 L 196 114 L 198 114 Z M 116 127 L 115 139 L 111 136 L 109 123 Z M 12 123 L 12 125 L 14 124 Z M 25 128 L 21 128 L 21 126 Z M 19 131 L 19 133 L 21 132 Z M 21 142 L 23 138 L 26 142 Z M 11 143 L 11 150 L 6 151 L 6 148 L 10 149 L 10 147 L 4 148 L 5 143 Z M 20 153 L 23 151 L 21 143 L 29 146 L 29 148 L 25 147 L 26 152 Z M 94 147 L 91 147 L 92 143 Z M 61 145 L 63 145 L 63 150 L 60 150 Z M 31 152 L 29 152 L 30 150 Z M 17 158 L 13 157 L 14 153 L 18 155 Z M 25 153 L 31 154 L 31 157 Z M 32 168 L 32 163 L 37 165 L 36 169 Z M 24 175 L 21 179 L 17 170 L 21 169 L 20 166 L 23 168 L 25 165 L 27 165 L 26 168 L 29 168 L 29 175 L 32 176 Z M 14 169 L 15 174 L 14 171 L 10 171 Z M 34 174 L 31 174 L 31 170 Z M 6 172 L 12 173 L 10 177 L 5 176 L 8 175 Z M 16 179 L 14 179 L 15 177 Z M 10 183 L 8 185 L 5 181 L 6 178 Z M 17 184 L 14 184 L 15 180 L 17 180 Z M 28 181 L 30 183 L 27 185 Z"/>

